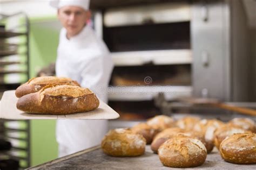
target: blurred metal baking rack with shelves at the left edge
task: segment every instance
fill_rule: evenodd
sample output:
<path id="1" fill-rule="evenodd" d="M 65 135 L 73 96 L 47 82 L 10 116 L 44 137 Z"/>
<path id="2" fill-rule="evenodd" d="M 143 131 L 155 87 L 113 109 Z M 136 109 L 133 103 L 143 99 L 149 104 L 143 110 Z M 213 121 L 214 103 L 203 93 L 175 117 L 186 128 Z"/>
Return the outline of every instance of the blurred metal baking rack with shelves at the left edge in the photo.
<path id="1" fill-rule="evenodd" d="M 16 89 L 28 79 L 28 16 L 24 12 L 14 15 L 0 13 L 0 97 L 4 91 Z M 0 139 L 11 143 L 9 150 L 0 151 L 0 160 L 18 161 L 18 169 L 30 167 L 29 121 L 0 119 Z M 8 166 L 12 168 L 13 165 Z"/>

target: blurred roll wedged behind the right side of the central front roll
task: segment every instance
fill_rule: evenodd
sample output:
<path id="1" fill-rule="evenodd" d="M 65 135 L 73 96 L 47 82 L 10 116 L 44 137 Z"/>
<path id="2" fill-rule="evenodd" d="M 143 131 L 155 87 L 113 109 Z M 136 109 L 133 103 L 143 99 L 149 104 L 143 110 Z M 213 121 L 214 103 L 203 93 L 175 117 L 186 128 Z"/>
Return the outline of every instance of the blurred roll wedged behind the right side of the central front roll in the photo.
<path id="1" fill-rule="evenodd" d="M 217 119 L 202 119 L 194 125 L 193 130 L 203 133 L 205 136 L 207 153 L 210 153 L 214 147 L 214 131 L 223 125 L 224 123 Z"/>

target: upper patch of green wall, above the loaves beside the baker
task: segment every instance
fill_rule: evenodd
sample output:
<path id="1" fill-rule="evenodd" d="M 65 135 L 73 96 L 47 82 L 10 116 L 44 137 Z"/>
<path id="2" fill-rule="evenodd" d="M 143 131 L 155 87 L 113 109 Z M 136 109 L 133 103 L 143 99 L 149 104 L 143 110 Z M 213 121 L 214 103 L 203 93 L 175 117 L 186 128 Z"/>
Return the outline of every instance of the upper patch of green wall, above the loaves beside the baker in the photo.
<path id="1" fill-rule="evenodd" d="M 57 18 L 30 19 L 30 77 L 56 60 L 59 30 L 51 28 L 55 22 Z"/>

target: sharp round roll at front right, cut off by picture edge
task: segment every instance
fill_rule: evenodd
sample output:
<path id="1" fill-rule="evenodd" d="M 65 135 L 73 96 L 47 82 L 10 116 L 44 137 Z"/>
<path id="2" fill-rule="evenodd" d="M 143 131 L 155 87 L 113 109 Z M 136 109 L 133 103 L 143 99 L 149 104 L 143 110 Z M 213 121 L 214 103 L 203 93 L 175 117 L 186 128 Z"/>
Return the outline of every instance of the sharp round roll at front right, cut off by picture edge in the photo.
<path id="1" fill-rule="evenodd" d="M 256 134 L 237 133 L 220 144 L 221 157 L 233 164 L 256 164 Z"/>

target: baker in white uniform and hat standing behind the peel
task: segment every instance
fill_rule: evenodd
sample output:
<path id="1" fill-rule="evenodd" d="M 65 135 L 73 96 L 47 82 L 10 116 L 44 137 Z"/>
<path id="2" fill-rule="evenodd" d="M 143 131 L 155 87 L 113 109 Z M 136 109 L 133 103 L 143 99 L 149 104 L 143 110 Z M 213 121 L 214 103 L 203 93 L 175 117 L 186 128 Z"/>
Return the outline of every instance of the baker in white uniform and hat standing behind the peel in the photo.
<path id="1" fill-rule="evenodd" d="M 89 0 L 51 1 L 58 9 L 60 31 L 56 76 L 70 77 L 90 88 L 104 102 L 113 69 L 106 45 L 96 37 L 87 21 Z M 108 130 L 106 120 L 58 120 L 56 128 L 59 157 L 100 144 Z"/>

